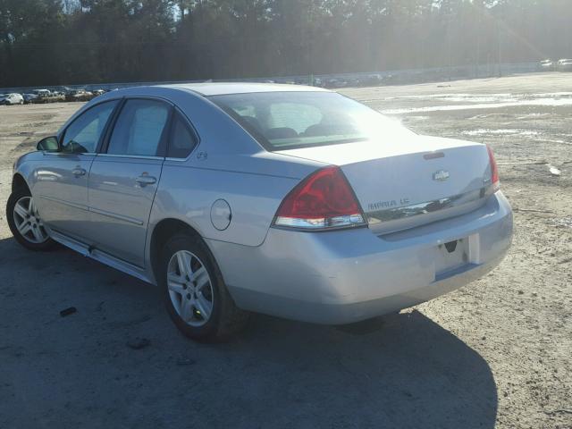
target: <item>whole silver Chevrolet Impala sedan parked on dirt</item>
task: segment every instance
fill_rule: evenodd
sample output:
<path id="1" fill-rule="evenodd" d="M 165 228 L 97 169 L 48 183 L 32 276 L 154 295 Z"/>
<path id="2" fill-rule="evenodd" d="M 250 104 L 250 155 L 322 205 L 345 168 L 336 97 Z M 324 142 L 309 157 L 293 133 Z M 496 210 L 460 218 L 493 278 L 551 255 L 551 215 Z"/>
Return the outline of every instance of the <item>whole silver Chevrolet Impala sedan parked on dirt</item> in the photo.
<path id="1" fill-rule="evenodd" d="M 158 285 L 190 338 L 248 312 L 349 324 L 501 262 L 490 148 L 416 135 L 319 88 L 207 83 L 97 97 L 14 164 L 7 219 Z"/>

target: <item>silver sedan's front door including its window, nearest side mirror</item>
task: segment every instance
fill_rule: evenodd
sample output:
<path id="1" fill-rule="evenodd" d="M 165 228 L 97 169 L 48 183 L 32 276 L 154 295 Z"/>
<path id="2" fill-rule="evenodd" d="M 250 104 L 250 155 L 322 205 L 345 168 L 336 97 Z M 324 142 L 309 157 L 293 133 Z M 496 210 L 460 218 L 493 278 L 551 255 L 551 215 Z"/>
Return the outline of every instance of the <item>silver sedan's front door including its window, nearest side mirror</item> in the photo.
<path id="1" fill-rule="evenodd" d="M 45 152 L 34 171 L 33 193 L 42 220 L 76 240 L 87 242 L 89 170 L 118 103 L 101 103 L 80 114 L 63 131 L 61 150 Z"/>

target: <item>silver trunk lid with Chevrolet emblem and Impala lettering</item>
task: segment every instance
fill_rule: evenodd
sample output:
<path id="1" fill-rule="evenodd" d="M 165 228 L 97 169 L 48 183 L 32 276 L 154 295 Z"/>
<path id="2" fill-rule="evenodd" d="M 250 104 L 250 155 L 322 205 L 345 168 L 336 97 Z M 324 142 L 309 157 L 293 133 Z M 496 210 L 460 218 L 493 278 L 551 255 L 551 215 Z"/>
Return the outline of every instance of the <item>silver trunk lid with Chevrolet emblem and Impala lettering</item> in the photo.
<path id="1" fill-rule="evenodd" d="M 378 234 L 473 211 L 491 185 L 486 147 L 463 140 L 412 134 L 391 147 L 368 141 L 280 153 L 339 165 Z"/>

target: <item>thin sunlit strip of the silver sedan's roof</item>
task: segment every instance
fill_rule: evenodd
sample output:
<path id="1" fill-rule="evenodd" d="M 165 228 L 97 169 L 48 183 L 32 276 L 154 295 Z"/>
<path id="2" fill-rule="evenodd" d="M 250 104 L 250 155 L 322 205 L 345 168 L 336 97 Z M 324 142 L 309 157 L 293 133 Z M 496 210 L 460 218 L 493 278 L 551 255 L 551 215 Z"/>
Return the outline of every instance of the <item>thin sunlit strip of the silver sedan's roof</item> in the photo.
<path id="1" fill-rule="evenodd" d="M 205 82 L 160 85 L 162 88 L 187 89 L 202 96 L 223 96 L 230 94 L 248 94 L 256 92 L 330 92 L 324 88 L 280 83 L 255 82 Z"/>

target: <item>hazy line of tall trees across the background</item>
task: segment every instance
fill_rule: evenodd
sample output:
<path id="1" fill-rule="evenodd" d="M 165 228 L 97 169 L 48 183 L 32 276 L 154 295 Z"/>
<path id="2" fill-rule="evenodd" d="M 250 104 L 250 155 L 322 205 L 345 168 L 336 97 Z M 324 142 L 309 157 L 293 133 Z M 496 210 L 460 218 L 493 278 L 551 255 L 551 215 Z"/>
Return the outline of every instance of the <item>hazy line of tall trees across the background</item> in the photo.
<path id="1" fill-rule="evenodd" d="M 570 0 L 0 0 L 0 87 L 566 56 Z"/>

